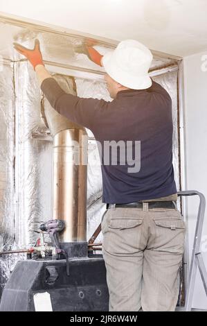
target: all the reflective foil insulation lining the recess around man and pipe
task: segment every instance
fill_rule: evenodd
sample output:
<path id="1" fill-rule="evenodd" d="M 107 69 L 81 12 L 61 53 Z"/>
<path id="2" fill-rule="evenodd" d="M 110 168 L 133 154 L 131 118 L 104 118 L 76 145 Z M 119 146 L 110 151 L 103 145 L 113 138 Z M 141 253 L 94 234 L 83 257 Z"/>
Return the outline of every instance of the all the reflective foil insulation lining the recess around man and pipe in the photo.
<path id="1" fill-rule="evenodd" d="M 69 34 L 55 29 L 12 21 L 0 17 L 1 71 L 0 71 L 0 252 L 25 249 L 33 246 L 38 236 L 39 224 L 48 221 L 54 214 L 53 197 L 53 147 L 66 141 L 66 130 L 52 130 L 51 108 L 40 91 L 33 67 L 17 53 L 12 42 L 33 48 L 35 38 L 41 44 L 46 68 L 64 89 L 75 83 L 75 94 L 80 97 L 104 98 L 111 101 L 104 81 L 105 71 L 87 58 L 83 52 L 87 37 Z M 96 33 L 96 31 L 94 31 Z M 116 47 L 117 42 L 91 37 L 94 47 L 105 54 Z M 165 69 L 168 67 L 169 69 Z M 164 70 L 163 70 L 164 69 Z M 170 93 L 172 98 L 173 165 L 179 184 L 179 128 L 177 61 L 165 55 L 154 55 L 152 78 Z M 156 75 L 154 72 L 156 71 Z M 163 72 L 162 72 L 163 71 Z M 47 116 L 47 119 L 45 119 Z M 60 118 L 60 117 L 59 117 Z M 58 119 L 59 119 L 58 118 Z M 47 121 L 46 121 L 47 120 Z M 57 123 L 58 125 L 58 123 Z M 96 140 L 90 130 L 82 130 L 88 136 L 87 164 L 87 216 L 88 241 L 100 224 L 105 204 L 102 203 L 102 175 Z M 74 135 L 74 137 L 79 137 Z M 55 141 L 53 142 L 53 139 Z M 53 146 L 54 145 L 54 146 Z M 56 152 L 56 160 L 58 158 Z M 58 159 L 55 161 L 58 162 Z M 58 164 L 56 168 L 58 170 Z M 66 187 L 68 184 L 66 183 Z M 69 187 L 69 196 L 71 188 Z M 77 194 L 77 196 L 79 196 Z M 78 197 L 77 197 L 78 200 Z M 75 239 L 70 231 L 67 239 Z M 84 239 L 84 235 L 80 236 Z M 78 239 L 78 236 L 77 236 Z M 102 233 L 96 242 L 102 241 Z M 4 286 L 16 262 L 26 259 L 25 254 L 0 257 L 1 288 Z M 1 291 L 0 291 L 1 293 Z"/>

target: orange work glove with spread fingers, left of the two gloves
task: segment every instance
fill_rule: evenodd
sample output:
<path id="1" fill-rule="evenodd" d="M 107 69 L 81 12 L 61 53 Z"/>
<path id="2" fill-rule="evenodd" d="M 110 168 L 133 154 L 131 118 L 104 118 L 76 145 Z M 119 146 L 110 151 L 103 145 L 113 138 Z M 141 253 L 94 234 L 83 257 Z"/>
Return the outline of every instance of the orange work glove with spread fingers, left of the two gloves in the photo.
<path id="1" fill-rule="evenodd" d="M 42 53 L 40 51 L 39 40 L 35 40 L 35 47 L 33 50 L 27 49 L 15 42 L 13 44 L 15 50 L 17 50 L 29 60 L 29 62 L 33 65 L 34 70 L 37 65 L 44 65 L 42 61 Z"/>

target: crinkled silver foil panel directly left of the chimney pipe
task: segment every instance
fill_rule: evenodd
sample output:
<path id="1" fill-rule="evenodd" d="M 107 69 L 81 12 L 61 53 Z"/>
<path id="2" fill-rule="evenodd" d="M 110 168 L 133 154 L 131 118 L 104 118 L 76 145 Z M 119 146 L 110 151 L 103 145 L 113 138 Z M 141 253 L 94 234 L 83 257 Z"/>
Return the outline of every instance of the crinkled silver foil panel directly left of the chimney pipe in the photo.
<path id="1" fill-rule="evenodd" d="M 16 237 L 25 248 L 37 239 L 39 223 L 51 219 L 53 143 L 41 119 L 41 92 L 33 68 L 17 63 L 15 78 Z"/>

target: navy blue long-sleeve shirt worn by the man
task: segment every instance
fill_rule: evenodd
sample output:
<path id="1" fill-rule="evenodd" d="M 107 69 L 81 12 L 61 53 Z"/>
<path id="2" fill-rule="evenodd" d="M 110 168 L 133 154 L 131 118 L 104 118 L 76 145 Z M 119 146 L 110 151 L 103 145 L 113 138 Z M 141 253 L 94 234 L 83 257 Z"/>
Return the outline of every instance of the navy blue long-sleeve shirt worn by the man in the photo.
<path id="1" fill-rule="evenodd" d="M 103 203 L 131 203 L 177 193 L 172 166 L 172 100 L 161 85 L 152 81 L 148 89 L 120 91 L 111 102 L 66 94 L 54 78 L 46 78 L 41 89 L 57 112 L 89 128 L 101 144 Z M 122 146 L 131 141 L 133 155 L 140 141 L 139 171 L 129 172 L 132 162 L 127 157 L 123 162 L 118 154 L 117 165 L 112 164 L 111 156 L 105 164 L 107 141 L 122 141 Z"/>

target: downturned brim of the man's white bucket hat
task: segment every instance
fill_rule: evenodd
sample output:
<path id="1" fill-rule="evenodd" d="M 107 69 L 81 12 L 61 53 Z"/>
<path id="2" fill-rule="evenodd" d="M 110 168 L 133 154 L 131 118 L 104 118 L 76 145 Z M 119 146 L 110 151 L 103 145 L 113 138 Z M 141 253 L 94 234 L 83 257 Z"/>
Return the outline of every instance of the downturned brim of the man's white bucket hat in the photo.
<path id="1" fill-rule="evenodd" d="M 113 62 L 112 55 L 113 51 L 106 53 L 102 57 L 102 65 L 107 74 L 116 80 L 116 82 L 130 89 L 147 89 L 152 86 L 152 80 L 149 74 L 144 76 L 128 74 L 127 71 L 121 69 Z"/>

